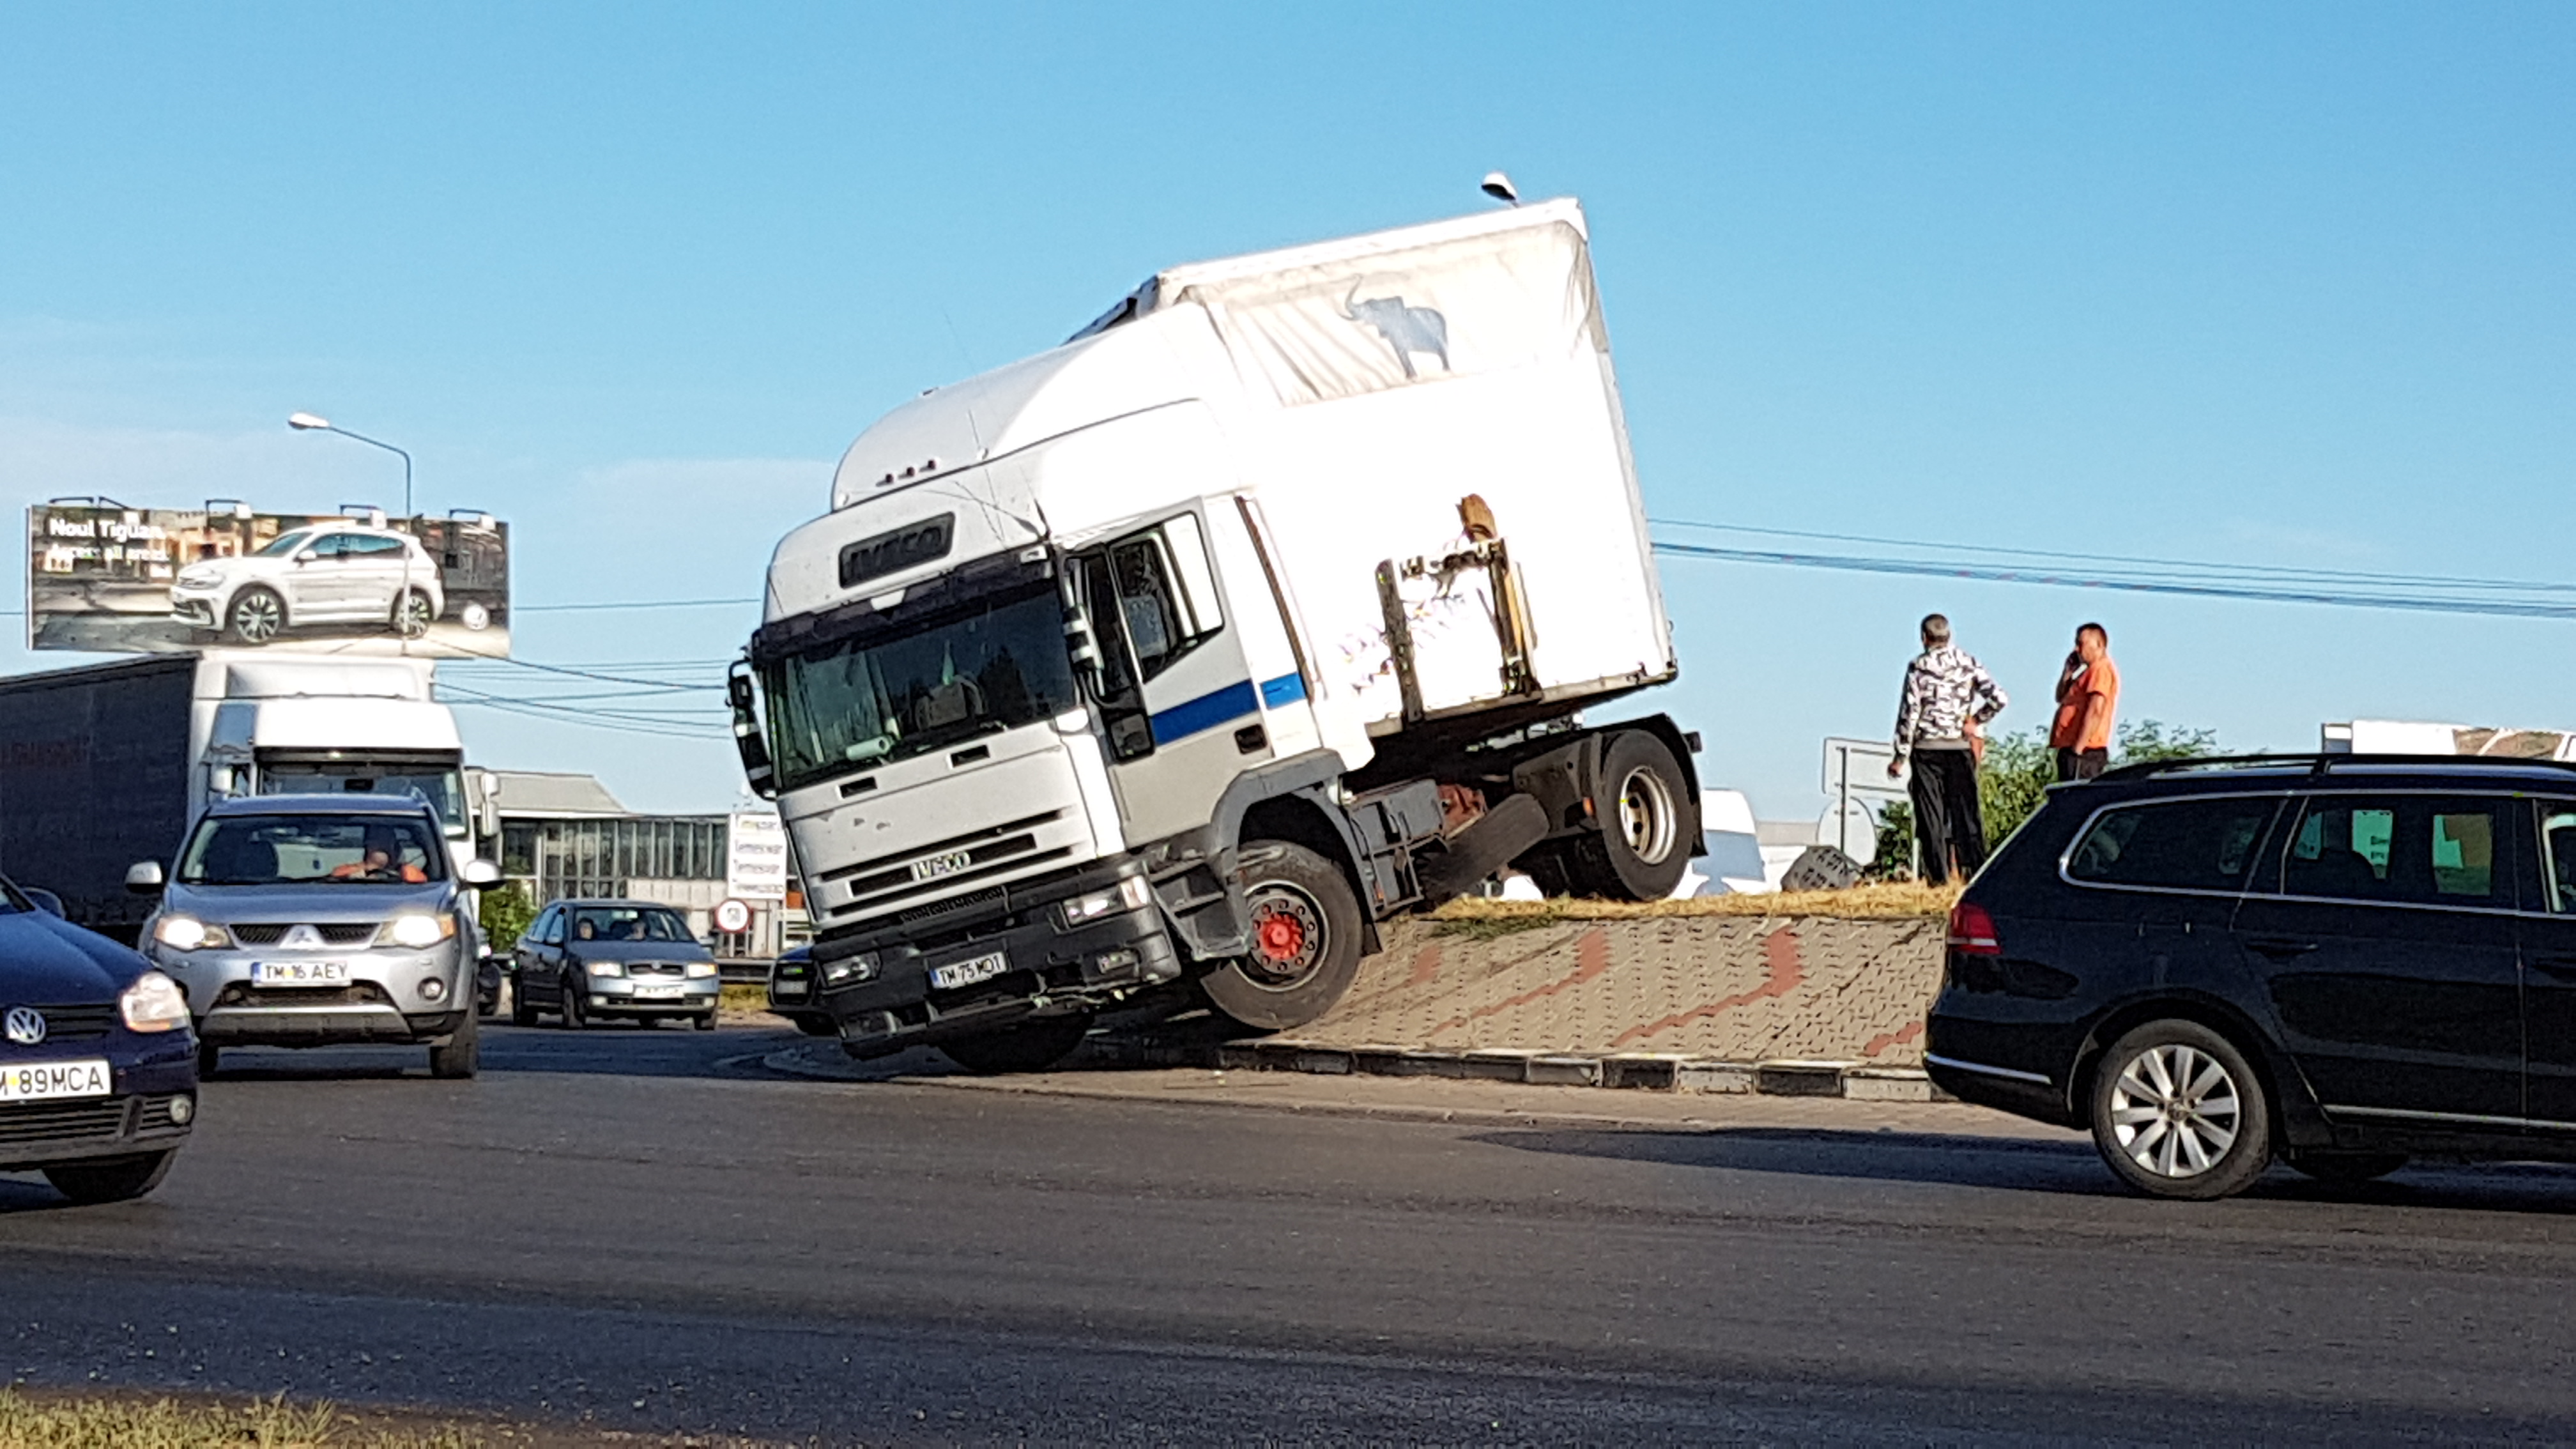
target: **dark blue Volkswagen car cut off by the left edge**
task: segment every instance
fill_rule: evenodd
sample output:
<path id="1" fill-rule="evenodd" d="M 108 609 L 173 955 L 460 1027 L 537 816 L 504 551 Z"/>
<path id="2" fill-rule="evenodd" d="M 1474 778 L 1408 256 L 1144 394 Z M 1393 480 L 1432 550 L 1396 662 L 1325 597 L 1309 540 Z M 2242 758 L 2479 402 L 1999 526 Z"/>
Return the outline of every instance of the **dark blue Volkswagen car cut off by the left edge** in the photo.
<path id="1" fill-rule="evenodd" d="M 149 962 L 0 879 L 0 1171 L 72 1201 L 160 1186 L 196 1122 L 188 998 Z"/>

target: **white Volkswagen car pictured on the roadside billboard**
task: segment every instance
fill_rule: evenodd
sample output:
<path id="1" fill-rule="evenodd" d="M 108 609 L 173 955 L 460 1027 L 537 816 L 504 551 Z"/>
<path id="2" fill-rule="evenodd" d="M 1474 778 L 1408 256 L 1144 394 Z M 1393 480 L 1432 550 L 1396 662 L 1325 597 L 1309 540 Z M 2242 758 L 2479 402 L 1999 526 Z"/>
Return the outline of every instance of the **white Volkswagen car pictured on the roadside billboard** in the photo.
<path id="1" fill-rule="evenodd" d="M 446 596 L 420 539 L 363 523 L 314 523 L 268 547 L 183 567 L 170 611 L 234 645 L 265 645 L 309 624 L 386 624 L 420 637 Z"/>

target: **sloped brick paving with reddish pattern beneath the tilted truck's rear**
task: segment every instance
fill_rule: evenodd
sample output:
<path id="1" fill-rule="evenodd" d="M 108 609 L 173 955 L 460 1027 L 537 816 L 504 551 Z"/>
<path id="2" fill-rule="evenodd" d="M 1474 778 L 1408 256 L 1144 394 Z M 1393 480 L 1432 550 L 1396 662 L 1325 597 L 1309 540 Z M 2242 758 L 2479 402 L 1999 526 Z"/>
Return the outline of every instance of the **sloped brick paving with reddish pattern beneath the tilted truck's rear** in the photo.
<path id="1" fill-rule="evenodd" d="M 1298 1042 L 1911 1067 L 1940 920 L 1649 918 L 1492 933 L 1406 920 Z"/>

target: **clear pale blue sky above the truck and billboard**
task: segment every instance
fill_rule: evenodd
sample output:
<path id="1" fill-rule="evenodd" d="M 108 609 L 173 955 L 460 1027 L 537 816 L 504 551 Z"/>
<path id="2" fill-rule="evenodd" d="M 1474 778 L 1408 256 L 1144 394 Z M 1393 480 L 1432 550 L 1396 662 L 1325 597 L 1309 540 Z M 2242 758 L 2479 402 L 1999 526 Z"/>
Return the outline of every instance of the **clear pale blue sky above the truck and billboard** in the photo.
<path id="1" fill-rule="evenodd" d="M 520 603 L 757 593 L 829 464 L 1157 266 L 1582 196 L 1659 516 L 2563 580 L 2576 10 L 1306 5 L 0 10 L 0 505 L 518 531 Z M 23 593 L 13 557 L 0 590 Z M 1947 611 L 2045 722 L 2576 727 L 2576 624 L 1664 562 L 1703 771 L 1819 810 Z M 15 634 L 15 619 L 10 634 Z M 711 660 L 747 608 L 528 614 Z M 0 645 L 0 670 L 77 663 Z M 466 712 L 721 807 L 721 743 Z"/>

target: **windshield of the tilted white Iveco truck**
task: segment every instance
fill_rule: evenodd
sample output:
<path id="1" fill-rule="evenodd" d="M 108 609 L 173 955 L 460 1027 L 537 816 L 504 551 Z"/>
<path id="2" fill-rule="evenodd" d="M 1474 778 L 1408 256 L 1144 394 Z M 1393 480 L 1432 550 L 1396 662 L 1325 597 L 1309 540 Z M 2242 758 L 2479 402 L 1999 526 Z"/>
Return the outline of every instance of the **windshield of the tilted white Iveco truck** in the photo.
<path id="1" fill-rule="evenodd" d="M 902 761 L 1074 709 L 1056 585 L 1038 580 L 765 670 L 778 786 Z"/>

